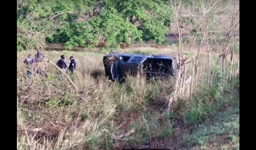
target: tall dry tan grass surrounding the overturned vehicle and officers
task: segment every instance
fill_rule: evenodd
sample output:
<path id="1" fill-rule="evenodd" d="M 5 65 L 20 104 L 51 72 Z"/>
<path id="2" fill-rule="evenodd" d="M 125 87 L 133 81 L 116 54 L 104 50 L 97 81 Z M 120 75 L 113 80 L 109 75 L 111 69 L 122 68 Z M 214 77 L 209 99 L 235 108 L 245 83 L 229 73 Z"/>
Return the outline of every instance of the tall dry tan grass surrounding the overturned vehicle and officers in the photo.
<path id="1" fill-rule="evenodd" d="M 173 46 L 121 51 L 175 55 L 176 49 Z M 164 111 L 173 78 L 146 81 L 129 76 L 123 85 L 109 82 L 102 62 L 103 53 L 107 52 L 47 52 L 53 62 L 61 54 L 66 58 L 74 56 L 77 62 L 74 83 L 79 96 L 67 80 L 61 82 L 58 70 L 51 64 L 47 66 L 48 79 L 34 75 L 32 81 L 27 80 L 26 69 L 17 58 L 17 149 L 164 148 L 169 145 L 175 128 L 183 128 L 177 120 L 183 120 L 183 113 L 189 111 L 184 109 L 190 107 L 185 108 L 181 103 L 176 113 Z M 17 52 L 21 60 L 27 54 Z M 199 64 L 205 65 L 206 55 L 201 53 L 200 58 Z M 52 139 L 39 138 L 49 132 L 55 135 Z"/>

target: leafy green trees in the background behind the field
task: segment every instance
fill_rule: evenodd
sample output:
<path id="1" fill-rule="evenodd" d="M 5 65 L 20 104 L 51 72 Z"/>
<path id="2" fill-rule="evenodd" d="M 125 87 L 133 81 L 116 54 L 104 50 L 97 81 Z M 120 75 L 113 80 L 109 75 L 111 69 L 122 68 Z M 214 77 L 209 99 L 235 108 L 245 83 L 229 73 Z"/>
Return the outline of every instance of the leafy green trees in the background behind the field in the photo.
<path id="1" fill-rule="evenodd" d="M 160 1 L 167 3 L 165 1 Z M 17 50 L 34 45 L 64 43 L 95 48 L 99 41 L 107 47 L 155 40 L 165 44 L 166 15 L 159 1 L 28 0 L 17 2 Z M 86 18 L 84 21 L 77 19 Z M 99 40 L 99 39 L 104 39 Z"/>

